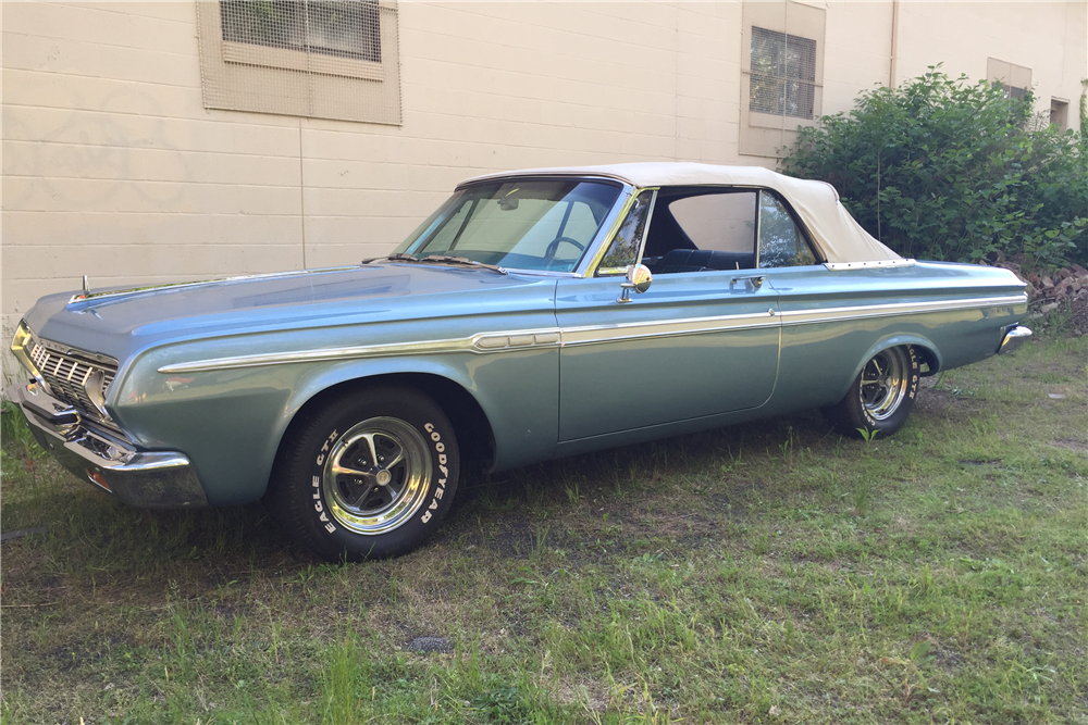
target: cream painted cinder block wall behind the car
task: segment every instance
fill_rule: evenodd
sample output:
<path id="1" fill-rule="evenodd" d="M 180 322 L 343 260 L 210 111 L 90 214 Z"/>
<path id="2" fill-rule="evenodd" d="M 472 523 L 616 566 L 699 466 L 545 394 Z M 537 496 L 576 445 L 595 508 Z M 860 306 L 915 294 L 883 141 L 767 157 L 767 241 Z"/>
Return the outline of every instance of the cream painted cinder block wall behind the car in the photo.
<path id="1" fill-rule="evenodd" d="M 889 80 L 892 2 L 825 8 L 825 113 Z M 741 2 L 399 3 L 401 126 L 206 110 L 197 10 L 3 2 L 2 327 L 41 295 L 354 263 L 460 179 L 737 152 Z M 1088 75 L 1084 2 L 900 5 L 897 80 Z M 4 368 L 12 370 L 5 357 Z"/>

